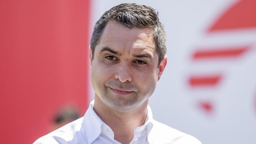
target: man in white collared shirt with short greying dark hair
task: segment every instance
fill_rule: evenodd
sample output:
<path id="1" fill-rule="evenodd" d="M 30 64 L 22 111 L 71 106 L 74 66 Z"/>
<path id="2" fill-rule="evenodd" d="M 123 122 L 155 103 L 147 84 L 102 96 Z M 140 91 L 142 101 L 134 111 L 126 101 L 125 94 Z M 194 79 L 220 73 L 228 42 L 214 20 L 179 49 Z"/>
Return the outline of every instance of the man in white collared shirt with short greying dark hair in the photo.
<path id="1" fill-rule="evenodd" d="M 152 118 L 148 98 L 167 64 L 166 49 L 151 7 L 120 4 L 106 11 L 90 46 L 95 100 L 85 116 L 34 144 L 201 144 Z"/>

